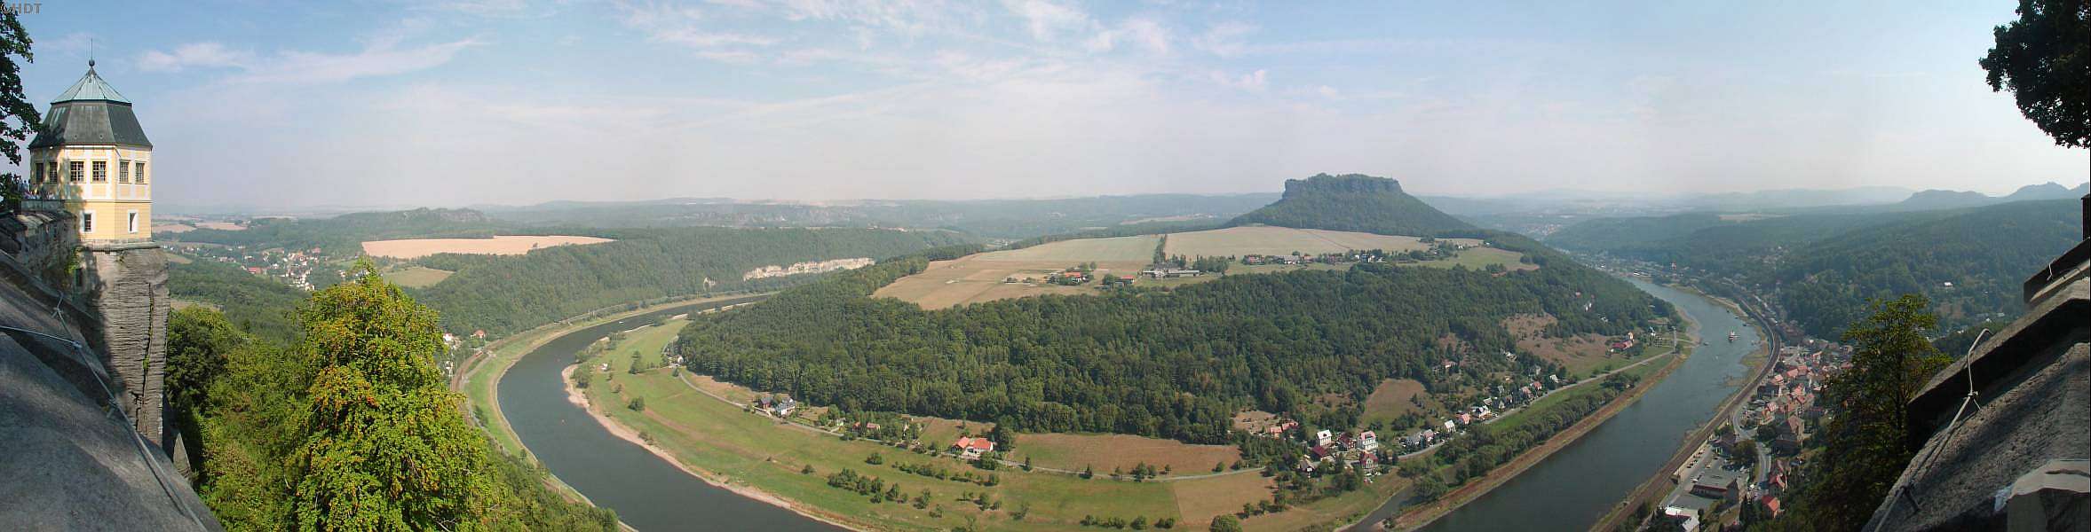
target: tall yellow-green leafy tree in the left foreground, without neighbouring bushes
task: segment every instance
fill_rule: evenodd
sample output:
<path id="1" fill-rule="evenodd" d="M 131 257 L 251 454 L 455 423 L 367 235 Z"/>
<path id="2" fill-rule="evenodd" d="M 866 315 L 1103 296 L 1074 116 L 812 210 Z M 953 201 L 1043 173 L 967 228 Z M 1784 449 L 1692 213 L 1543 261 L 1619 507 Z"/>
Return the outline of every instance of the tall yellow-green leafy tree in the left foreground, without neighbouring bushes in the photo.
<path id="1" fill-rule="evenodd" d="M 443 353 L 429 307 L 370 263 L 320 290 L 293 348 L 314 367 L 289 453 L 299 528 L 433 530 L 491 524 L 481 436 L 458 411 L 433 359 Z"/>

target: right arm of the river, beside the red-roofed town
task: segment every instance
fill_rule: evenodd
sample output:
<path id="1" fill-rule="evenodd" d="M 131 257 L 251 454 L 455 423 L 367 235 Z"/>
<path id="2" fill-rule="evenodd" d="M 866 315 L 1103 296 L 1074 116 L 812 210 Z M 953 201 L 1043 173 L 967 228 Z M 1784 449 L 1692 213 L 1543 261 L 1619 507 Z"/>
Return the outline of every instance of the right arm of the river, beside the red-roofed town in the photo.
<path id="1" fill-rule="evenodd" d="M 1692 317 L 1698 323 L 1694 336 L 1708 344 L 1612 419 L 1422 530 L 1587 530 L 1654 476 L 1683 446 L 1687 432 L 1708 424 L 1721 401 L 1736 392 L 1748 371 L 1742 357 L 1759 348 L 1759 330 L 1704 296 L 1629 282 Z M 1736 332 L 1736 342 L 1727 340 L 1729 332 Z M 1386 503 L 1365 524 L 1397 509 L 1399 503 Z"/>

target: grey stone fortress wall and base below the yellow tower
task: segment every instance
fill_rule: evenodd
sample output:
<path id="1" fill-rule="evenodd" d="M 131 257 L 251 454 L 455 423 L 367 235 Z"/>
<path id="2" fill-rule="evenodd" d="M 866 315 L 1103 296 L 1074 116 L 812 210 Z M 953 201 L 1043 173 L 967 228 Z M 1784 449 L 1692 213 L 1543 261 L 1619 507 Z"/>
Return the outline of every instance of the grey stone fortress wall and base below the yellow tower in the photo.
<path id="1" fill-rule="evenodd" d="M 222 530 L 161 449 L 165 257 L 71 223 L 0 219 L 0 530 Z"/>

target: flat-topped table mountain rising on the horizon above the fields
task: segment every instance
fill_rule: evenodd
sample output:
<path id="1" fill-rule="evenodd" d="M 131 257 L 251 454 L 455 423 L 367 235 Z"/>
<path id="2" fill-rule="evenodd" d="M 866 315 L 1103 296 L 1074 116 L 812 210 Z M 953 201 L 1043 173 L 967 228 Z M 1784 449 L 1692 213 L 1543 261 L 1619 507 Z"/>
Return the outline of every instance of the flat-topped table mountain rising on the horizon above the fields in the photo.
<path id="1" fill-rule="evenodd" d="M 1401 192 L 1401 182 L 1363 173 L 1315 173 L 1307 179 L 1286 179 L 1286 194 L 1278 202 L 1227 221 L 1230 227 L 1253 223 L 1399 236 L 1476 229 Z"/>

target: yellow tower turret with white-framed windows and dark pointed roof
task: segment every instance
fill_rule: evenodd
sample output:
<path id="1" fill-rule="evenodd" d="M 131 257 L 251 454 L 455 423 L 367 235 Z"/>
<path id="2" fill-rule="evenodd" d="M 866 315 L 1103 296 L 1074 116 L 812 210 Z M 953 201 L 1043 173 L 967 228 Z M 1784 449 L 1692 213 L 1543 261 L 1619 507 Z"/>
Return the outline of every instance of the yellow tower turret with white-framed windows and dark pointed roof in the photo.
<path id="1" fill-rule="evenodd" d="M 88 61 L 88 73 L 50 100 L 29 142 L 31 200 L 56 200 L 79 219 L 82 244 L 153 242 L 153 142 L 132 102 Z"/>

